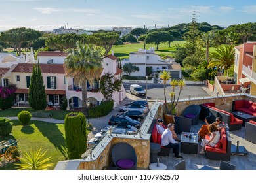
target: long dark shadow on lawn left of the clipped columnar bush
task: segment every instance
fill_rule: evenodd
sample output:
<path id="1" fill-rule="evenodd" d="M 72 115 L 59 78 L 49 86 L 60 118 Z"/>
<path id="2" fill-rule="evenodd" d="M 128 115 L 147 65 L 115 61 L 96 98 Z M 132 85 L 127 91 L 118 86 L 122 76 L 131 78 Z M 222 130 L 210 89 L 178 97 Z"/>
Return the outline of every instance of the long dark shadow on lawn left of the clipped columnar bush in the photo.
<path id="1" fill-rule="evenodd" d="M 43 136 L 47 137 L 49 141 L 57 148 L 65 158 L 66 155 L 66 141 L 64 134 L 58 129 L 58 125 L 47 122 L 36 122 L 35 126 L 42 133 Z"/>

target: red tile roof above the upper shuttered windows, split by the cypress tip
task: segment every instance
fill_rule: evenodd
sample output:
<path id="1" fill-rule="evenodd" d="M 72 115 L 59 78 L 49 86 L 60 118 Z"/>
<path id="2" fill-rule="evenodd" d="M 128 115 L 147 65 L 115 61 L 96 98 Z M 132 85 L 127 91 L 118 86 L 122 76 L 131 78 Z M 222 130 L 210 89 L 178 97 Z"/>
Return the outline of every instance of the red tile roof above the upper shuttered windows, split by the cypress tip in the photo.
<path id="1" fill-rule="evenodd" d="M 40 64 L 42 73 L 52 73 L 52 74 L 64 74 L 63 64 Z M 13 73 L 32 73 L 33 64 L 32 63 L 19 63 Z"/>

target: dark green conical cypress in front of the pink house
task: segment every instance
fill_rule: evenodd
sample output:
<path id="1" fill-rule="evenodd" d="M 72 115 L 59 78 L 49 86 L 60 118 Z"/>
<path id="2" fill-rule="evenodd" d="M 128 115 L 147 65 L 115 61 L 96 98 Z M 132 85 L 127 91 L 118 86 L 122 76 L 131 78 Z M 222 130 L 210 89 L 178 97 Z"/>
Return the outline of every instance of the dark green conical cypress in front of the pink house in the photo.
<path id="1" fill-rule="evenodd" d="M 45 85 L 43 84 L 43 76 L 39 63 L 33 65 L 30 89 L 28 91 L 28 103 L 35 110 L 45 110 L 47 105 Z"/>

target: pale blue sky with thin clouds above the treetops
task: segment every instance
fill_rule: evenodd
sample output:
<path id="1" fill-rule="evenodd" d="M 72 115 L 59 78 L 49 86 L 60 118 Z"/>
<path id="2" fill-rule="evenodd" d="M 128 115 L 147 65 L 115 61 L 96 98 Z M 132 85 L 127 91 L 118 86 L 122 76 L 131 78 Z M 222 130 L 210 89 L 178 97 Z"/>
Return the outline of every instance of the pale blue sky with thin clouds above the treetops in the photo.
<path id="1" fill-rule="evenodd" d="M 0 30 L 30 27 L 52 30 L 67 23 L 73 29 L 167 27 L 197 22 L 227 27 L 256 22 L 255 0 L 0 0 Z"/>

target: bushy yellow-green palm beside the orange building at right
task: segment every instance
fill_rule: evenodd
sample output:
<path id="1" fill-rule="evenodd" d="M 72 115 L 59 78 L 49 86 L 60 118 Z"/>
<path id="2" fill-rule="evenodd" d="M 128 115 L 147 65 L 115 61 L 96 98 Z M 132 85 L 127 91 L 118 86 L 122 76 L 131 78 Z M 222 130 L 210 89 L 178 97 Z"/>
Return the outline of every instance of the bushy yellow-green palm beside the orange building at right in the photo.
<path id="1" fill-rule="evenodd" d="M 234 54 L 234 46 L 219 46 L 219 48 L 211 54 L 208 68 L 217 67 L 217 69 L 227 70 L 234 65 Z"/>

